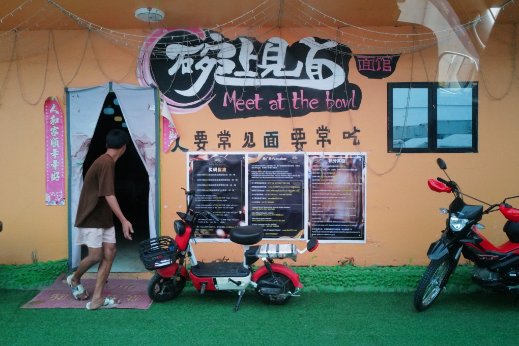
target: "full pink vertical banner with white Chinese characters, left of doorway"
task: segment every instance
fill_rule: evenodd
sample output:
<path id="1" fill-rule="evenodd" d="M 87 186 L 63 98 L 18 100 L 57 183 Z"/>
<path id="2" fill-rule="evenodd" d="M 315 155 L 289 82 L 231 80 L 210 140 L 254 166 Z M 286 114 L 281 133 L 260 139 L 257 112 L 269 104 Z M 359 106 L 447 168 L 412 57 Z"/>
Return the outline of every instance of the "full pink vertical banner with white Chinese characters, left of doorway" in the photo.
<path id="1" fill-rule="evenodd" d="M 56 96 L 45 100 L 45 204 L 65 204 L 63 113 Z"/>

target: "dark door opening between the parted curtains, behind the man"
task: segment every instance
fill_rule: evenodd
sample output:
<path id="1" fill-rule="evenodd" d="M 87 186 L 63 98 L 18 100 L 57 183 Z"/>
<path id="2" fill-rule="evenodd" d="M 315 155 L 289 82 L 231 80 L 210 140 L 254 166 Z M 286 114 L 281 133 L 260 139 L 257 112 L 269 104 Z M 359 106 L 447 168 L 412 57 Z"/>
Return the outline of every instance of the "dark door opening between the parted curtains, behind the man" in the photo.
<path id="1" fill-rule="evenodd" d="M 113 129 L 121 129 L 129 134 L 117 95 L 109 92 L 83 163 L 83 178 L 93 161 L 106 152 L 106 135 Z M 125 239 L 121 223 L 114 215 L 117 255 L 112 272 L 145 271 L 139 259 L 138 245 L 144 239 L 149 239 L 148 194 L 148 173 L 135 145 L 133 142 L 129 143 L 125 154 L 115 164 L 115 196 L 122 213 L 132 224 L 134 233 L 132 241 Z M 86 255 L 87 248 L 83 245 L 81 258 Z M 89 271 L 97 271 L 97 268 L 98 266 L 94 266 Z"/>

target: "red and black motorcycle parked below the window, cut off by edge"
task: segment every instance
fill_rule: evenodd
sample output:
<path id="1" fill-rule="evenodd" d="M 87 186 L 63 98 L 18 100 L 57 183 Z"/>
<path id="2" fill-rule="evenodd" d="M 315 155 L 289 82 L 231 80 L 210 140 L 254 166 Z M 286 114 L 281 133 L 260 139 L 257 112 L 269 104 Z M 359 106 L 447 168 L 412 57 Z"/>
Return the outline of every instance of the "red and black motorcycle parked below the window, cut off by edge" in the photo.
<path id="1" fill-rule="evenodd" d="M 507 203 L 507 200 L 519 196 L 505 198 L 501 203 L 489 204 L 461 192 L 456 182 L 448 176 L 447 165 L 442 159 L 436 160 L 448 181 L 442 178 L 430 179 L 429 188 L 435 192 L 452 192 L 454 200 L 449 209 L 440 208 L 448 214 L 446 228 L 439 240 L 433 242 L 427 256 L 431 260 L 424 275 L 418 283 L 414 307 L 418 311 L 429 308 L 445 288 L 450 275 L 458 266 L 460 255 L 473 262 L 472 281 L 494 292 L 519 293 L 519 210 Z M 470 205 L 463 197 L 487 205 Z M 503 231 L 509 241 L 500 246 L 491 244 L 480 230 L 483 215 L 500 211 L 507 219 Z"/>

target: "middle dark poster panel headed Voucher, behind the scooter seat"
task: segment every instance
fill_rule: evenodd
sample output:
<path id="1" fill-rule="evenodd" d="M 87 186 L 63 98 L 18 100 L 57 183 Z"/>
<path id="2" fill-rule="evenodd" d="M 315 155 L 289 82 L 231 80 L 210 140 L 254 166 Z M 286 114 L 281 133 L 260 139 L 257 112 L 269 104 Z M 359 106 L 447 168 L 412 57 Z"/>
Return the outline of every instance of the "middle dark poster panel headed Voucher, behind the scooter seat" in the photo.
<path id="1" fill-rule="evenodd" d="M 249 225 L 264 239 L 304 238 L 305 155 L 249 154 Z"/>

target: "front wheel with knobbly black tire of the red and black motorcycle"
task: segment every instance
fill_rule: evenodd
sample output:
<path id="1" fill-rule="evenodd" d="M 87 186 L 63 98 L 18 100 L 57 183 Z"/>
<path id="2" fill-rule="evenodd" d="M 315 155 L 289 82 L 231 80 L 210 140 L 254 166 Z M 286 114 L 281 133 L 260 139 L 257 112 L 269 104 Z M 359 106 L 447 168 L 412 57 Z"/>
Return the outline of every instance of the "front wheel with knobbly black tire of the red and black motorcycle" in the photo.
<path id="1" fill-rule="evenodd" d="M 453 268 L 451 267 L 453 265 L 454 261 L 451 261 L 447 256 L 430 262 L 416 287 L 413 301 L 416 310 L 427 310 L 438 298 L 446 284 L 445 279 L 448 280 L 448 275 L 452 272 Z"/>

